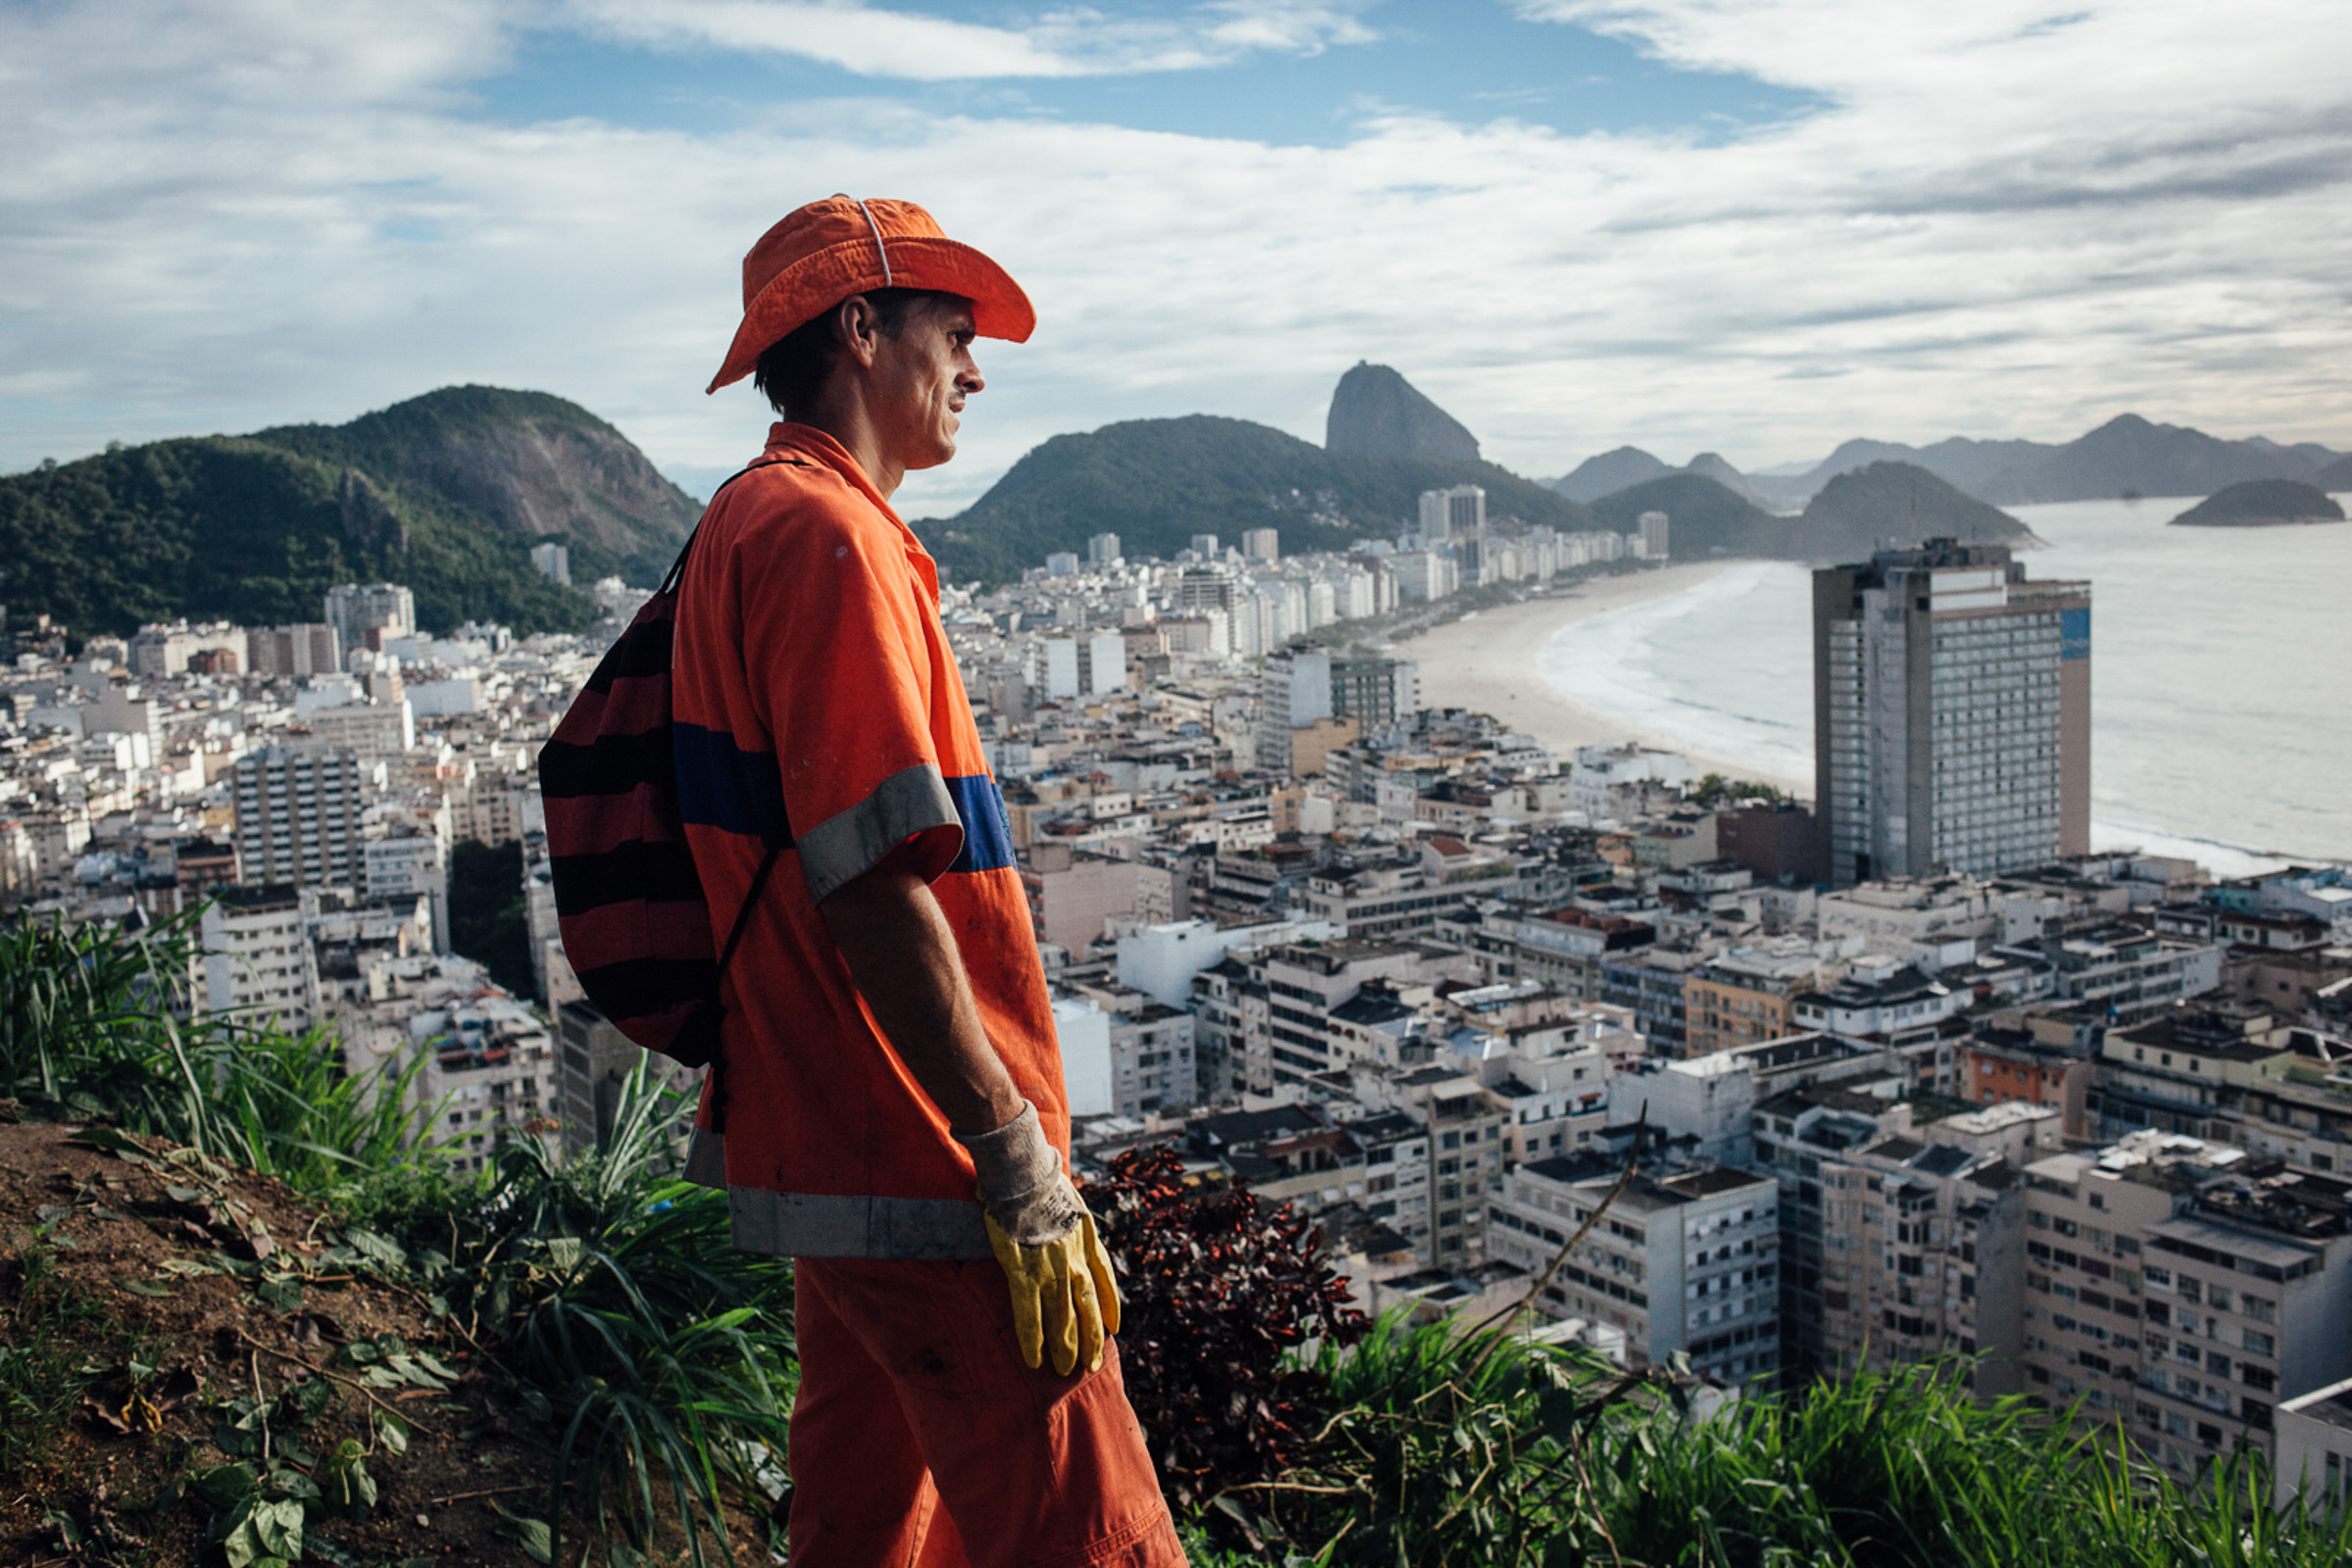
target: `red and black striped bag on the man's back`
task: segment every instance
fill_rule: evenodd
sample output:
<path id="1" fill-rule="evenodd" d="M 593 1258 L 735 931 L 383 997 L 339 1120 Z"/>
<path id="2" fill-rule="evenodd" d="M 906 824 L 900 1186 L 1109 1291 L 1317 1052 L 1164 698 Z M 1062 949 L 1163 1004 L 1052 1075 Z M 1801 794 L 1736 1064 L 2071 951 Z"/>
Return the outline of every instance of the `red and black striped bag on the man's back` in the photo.
<path id="1" fill-rule="evenodd" d="M 687 849 L 670 736 L 670 644 L 691 550 L 687 536 L 677 564 L 539 750 L 539 795 L 548 809 L 555 919 L 581 990 L 647 1051 L 701 1067 L 720 1053 L 720 978 L 783 846 L 769 844 L 760 858 L 727 947 L 713 954 L 710 903 Z"/>

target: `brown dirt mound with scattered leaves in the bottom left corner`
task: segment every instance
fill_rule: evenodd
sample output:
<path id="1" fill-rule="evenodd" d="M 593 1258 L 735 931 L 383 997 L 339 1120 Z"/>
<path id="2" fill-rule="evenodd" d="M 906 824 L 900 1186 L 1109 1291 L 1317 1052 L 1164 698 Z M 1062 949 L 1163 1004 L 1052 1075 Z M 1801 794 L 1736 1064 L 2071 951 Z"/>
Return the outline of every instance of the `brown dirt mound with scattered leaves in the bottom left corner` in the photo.
<path id="1" fill-rule="evenodd" d="M 0 1561 L 245 1568 L 207 1542 L 223 1512 L 200 1479 L 278 1460 L 278 1486 L 336 1486 L 346 1441 L 367 1450 L 374 1507 L 313 1507 L 303 1561 L 546 1561 L 515 1514 L 548 1514 L 553 1434 L 423 1295 L 336 1267 L 336 1244 L 275 1180 L 153 1140 L 0 1124 L 0 1356 L 52 1394 L 80 1389 L 61 1420 L 7 1406 Z M 268 1432 L 238 1432 L 240 1408 L 268 1408 Z M 405 1453 L 381 1436 L 390 1415 Z M 743 1544 L 748 1530 L 739 1563 L 767 1563 Z"/>

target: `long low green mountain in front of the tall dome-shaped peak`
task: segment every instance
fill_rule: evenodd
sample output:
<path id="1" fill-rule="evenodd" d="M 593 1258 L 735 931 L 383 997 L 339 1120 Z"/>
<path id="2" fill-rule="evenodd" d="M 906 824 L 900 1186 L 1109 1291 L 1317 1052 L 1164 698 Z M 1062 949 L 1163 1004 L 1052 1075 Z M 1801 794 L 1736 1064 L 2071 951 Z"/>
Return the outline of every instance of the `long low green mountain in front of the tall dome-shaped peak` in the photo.
<path id="1" fill-rule="evenodd" d="M 1475 458 L 1327 451 L 1247 418 L 1136 418 L 1033 447 L 955 517 L 913 527 L 957 581 L 1018 581 L 1051 550 L 1117 534 L 1129 555 L 1174 557 L 1192 534 L 1237 543 L 1282 529 L 1284 552 L 1343 550 L 1421 524 L 1421 491 L 1486 487 L 1489 517 L 1590 529 L 1592 512 Z"/>

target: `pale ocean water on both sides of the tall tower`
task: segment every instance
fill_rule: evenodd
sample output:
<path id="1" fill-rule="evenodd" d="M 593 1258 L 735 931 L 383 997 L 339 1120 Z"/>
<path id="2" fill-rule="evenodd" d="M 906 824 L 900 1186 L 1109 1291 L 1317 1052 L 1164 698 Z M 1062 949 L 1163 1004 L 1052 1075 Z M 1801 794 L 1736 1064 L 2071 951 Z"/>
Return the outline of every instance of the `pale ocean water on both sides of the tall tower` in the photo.
<path id="1" fill-rule="evenodd" d="M 2091 846 L 2218 875 L 2352 860 L 2352 522 L 2164 527 L 2187 505 L 2009 508 L 2049 541 L 2020 552 L 2027 576 L 2091 583 Z M 1804 567 L 1740 562 L 1562 628 L 1538 672 L 1571 703 L 1811 795 Z"/>

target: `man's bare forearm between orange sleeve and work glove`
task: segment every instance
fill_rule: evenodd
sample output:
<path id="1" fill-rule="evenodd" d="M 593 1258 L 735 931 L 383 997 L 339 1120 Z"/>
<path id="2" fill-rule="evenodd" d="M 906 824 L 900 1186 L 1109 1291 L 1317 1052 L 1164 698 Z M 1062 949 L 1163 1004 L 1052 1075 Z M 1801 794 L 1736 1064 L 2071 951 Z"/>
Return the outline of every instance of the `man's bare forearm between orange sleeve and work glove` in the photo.
<path id="1" fill-rule="evenodd" d="M 910 858 L 882 858 L 818 912 L 882 1034 L 948 1126 L 974 1135 L 1018 1117 L 1021 1091 L 981 1027 L 955 931 Z"/>

